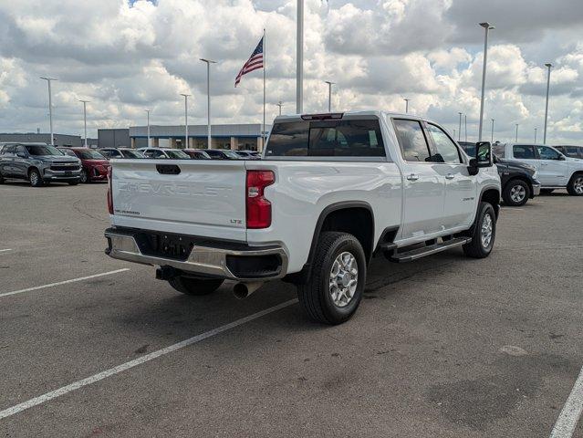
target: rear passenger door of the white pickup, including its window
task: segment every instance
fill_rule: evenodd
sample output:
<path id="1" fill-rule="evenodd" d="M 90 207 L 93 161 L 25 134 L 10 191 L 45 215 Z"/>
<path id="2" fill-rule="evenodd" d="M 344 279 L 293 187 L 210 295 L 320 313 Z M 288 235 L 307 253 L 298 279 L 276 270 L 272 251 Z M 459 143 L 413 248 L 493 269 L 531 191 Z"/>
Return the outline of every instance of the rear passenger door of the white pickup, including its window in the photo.
<path id="1" fill-rule="evenodd" d="M 393 119 L 401 148 L 403 226 L 401 240 L 419 240 L 444 229 L 445 179 L 430 161 L 429 143 L 419 120 Z"/>

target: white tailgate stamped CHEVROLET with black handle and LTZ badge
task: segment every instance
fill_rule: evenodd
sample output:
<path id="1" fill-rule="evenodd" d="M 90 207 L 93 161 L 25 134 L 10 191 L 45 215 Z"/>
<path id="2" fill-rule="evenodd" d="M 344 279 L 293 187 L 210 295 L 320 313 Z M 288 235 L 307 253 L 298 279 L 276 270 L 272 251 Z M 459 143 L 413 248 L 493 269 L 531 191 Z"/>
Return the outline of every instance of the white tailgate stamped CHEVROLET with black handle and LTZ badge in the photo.
<path id="1" fill-rule="evenodd" d="M 245 162 L 112 160 L 112 224 L 246 240 Z"/>

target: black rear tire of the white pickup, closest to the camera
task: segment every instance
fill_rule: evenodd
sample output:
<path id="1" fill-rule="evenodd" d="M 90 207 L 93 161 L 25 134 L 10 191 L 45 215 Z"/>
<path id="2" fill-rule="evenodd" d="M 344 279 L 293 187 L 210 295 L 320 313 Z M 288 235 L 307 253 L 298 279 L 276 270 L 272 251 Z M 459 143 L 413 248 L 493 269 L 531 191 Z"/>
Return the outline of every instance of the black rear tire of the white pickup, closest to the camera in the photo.
<path id="1" fill-rule="evenodd" d="M 342 296 L 347 300 L 346 304 L 339 306 L 335 304 L 332 293 L 330 293 L 330 274 L 337 257 L 344 253 L 352 255 L 353 262 L 357 264 L 357 283 L 350 298 L 345 292 L 339 295 L 340 290 L 337 289 L 337 297 Z M 342 272 L 344 272 L 343 276 L 347 278 L 347 283 L 354 279 L 349 271 L 343 270 Z M 340 324 L 352 317 L 359 308 L 367 280 L 366 276 L 366 256 L 359 240 L 348 233 L 324 232 L 318 239 L 310 277 L 307 284 L 297 286 L 297 297 L 309 318 L 324 324 Z M 336 286 L 338 287 L 338 283 Z M 349 288 L 347 284 L 344 284 L 343 287 Z M 341 299 L 338 298 L 338 300 Z"/>

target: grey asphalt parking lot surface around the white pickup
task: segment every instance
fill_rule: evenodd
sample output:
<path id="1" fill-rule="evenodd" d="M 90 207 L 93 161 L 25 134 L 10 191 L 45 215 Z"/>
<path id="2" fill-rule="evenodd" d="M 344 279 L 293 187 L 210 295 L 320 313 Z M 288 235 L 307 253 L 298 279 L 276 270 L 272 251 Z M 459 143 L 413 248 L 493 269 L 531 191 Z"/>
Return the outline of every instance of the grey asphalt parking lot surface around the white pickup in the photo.
<path id="1" fill-rule="evenodd" d="M 0 412 L 55 396 L 0 436 L 548 436 L 583 365 L 583 199 L 504 207 L 484 260 L 375 259 L 327 327 L 286 283 L 185 297 L 109 259 L 105 194 L 0 185 Z"/>

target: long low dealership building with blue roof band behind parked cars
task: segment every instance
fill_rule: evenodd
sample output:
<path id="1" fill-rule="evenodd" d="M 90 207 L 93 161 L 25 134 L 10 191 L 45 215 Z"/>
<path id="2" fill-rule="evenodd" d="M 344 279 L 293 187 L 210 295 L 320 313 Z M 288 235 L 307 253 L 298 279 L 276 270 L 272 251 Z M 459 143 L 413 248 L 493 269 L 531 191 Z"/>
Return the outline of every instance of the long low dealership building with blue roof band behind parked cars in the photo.
<path id="1" fill-rule="evenodd" d="M 265 125 L 269 132 L 271 125 Z M 154 148 L 208 149 L 207 125 L 188 125 L 188 146 L 185 144 L 184 125 L 150 126 L 150 145 Z M 129 131 L 130 147 L 148 146 L 148 127 L 131 126 Z M 101 144 L 99 144 L 100 147 Z M 211 149 L 231 149 L 262 151 L 262 125 L 260 123 L 241 123 L 211 125 Z"/>

